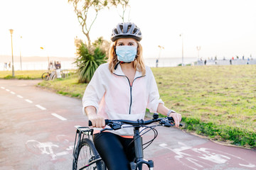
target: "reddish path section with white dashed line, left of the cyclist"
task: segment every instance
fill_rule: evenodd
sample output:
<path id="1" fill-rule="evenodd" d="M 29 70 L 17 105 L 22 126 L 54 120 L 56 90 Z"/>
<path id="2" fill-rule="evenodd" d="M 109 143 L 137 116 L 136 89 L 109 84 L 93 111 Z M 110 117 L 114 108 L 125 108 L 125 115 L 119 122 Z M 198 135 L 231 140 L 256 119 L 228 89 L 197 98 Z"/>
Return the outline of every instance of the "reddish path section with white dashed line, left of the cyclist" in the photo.
<path id="1" fill-rule="evenodd" d="M 75 125 L 86 125 L 79 99 L 0 80 L 0 169 L 72 169 Z"/>

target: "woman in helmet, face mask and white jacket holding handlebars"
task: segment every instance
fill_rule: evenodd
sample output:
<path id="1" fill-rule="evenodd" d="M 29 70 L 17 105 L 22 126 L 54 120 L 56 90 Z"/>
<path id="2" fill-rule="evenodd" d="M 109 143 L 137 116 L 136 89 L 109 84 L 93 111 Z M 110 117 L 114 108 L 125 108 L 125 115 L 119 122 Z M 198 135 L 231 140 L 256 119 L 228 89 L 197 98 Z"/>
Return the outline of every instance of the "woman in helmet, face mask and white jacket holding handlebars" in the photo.
<path id="1" fill-rule="evenodd" d="M 109 62 L 97 68 L 82 98 L 83 111 L 95 128 L 105 127 L 105 119 L 143 119 L 146 108 L 174 118 L 181 114 L 169 110 L 159 98 L 154 74 L 142 58 L 142 33 L 134 23 L 119 23 L 112 30 Z M 135 155 L 133 128 L 96 133 L 94 143 L 107 169 L 130 169 Z"/>

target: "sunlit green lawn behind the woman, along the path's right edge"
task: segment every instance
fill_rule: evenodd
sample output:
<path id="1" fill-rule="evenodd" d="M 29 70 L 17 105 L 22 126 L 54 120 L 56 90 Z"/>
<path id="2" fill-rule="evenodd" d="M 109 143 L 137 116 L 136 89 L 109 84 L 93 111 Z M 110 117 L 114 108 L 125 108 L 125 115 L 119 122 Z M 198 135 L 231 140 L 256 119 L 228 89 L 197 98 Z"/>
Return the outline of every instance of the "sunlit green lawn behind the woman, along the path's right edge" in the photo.
<path id="1" fill-rule="evenodd" d="M 256 147 L 256 65 L 152 68 L 161 99 L 183 115 L 184 129 Z M 0 78 L 2 74 L 0 72 Z M 38 86 L 82 98 L 76 74 Z"/>

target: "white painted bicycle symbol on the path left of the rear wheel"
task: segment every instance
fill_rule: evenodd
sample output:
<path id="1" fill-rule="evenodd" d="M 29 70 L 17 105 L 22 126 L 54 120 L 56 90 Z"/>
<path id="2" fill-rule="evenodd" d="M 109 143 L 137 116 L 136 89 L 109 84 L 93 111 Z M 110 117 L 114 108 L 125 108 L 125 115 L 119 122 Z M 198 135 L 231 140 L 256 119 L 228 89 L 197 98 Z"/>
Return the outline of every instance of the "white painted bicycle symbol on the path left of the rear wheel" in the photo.
<path id="1" fill-rule="evenodd" d="M 73 145 L 68 145 L 69 140 L 65 139 L 65 137 L 65 135 L 57 136 L 58 142 L 64 142 L 65 151 L 55 153 L 53 150 L 60 150 L 59 145 L 53 144 L 53 142 L 38 142 L 37 140 L 28 140 L 26 142 L 26 148 L 33 154 L 48 154 L 51 157 L 50 160 L 54 161 L 57 157 L 70 154 L 70 151 L 73 150 Z"/>

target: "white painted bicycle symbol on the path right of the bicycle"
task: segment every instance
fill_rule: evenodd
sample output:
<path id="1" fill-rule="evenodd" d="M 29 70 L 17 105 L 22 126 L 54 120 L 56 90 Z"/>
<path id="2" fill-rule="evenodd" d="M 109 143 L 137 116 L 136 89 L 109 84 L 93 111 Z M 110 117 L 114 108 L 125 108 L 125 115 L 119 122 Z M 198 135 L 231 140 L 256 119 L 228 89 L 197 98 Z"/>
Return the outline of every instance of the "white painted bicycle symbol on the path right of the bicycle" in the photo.
<path id="1" fill-rule="evenodd" d="M 210 148 L 195 148 L 189 147 L 188 145 L 178 142 L 181 147 L 171 149 L 166 144 L 159 145 L 165 149 L 169 149 L 176 154 L 175 159 L 181 164 L 188 166 L 190 169 L 198 170 L 213 167 L 216 164 L 228 164 L 235 162 L 239 166 L 247 168 L 255 168 L 255 164 L 247 162 L 245 159 L 237 157 L 233 154 L 228 154 L 215 149 Z"/>

